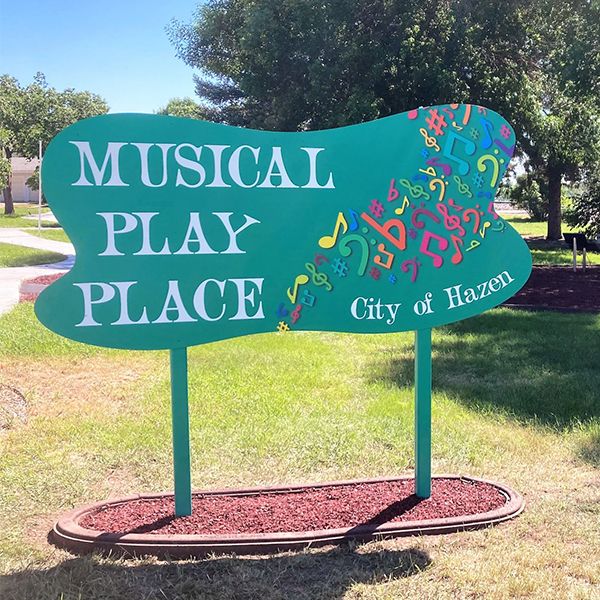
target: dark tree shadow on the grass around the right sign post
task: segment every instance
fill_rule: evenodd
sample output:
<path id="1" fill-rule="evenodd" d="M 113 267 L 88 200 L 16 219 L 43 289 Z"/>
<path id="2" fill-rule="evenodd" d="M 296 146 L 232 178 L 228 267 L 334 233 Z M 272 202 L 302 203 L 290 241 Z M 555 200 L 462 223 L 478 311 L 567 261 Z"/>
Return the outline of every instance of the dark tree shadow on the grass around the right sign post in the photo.
<path id="1" fill-rule="evenodd" d="M 527 424 L 591 422 L 600 416 L 599 323 L 591 314 L 502 309 L 442 327 L 433 341 L 434 391 Z M 370 368 L 373 379 L 398 387 L 413 380 L 410 357 Z"/>

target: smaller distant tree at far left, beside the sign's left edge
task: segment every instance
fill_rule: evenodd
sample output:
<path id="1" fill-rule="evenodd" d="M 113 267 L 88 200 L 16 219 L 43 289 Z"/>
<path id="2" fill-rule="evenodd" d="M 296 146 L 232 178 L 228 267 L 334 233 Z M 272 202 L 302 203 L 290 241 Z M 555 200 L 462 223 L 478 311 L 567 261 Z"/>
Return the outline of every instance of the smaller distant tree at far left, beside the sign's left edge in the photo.
<path id="1" fill-rule="evenodd" d="M 0 76 L 0 184 L 5 214 L 14 212 L 10 175 L 6 177 L 10 158 L 33 158 L 38 155 L 40 140 L 46 146 L 68 125 L 107 111 L 108 105 L 100 96 L 73 89 L 60 92 L 48 86 L 42 73 L 26 87 L 14 77 Z"/>

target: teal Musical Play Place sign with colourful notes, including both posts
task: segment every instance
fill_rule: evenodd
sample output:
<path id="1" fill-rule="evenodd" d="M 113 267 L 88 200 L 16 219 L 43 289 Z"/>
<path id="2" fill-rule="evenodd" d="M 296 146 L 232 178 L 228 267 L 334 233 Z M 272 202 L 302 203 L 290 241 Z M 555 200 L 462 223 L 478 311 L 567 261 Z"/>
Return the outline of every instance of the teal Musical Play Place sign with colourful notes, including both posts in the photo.
<path id="1" fill-rule="evenodd" d="M 187 346 L 279 331 L 416 330 L 416 493 L 431 493 L 431 328 L 504 302 L 531 255 L 494 211 L 512 128 L 470 104 L 275 133 L 106 115 L 50 144 L 73 269 L 57 333 L 171 350 L 176 515 L 191 512 Z"/>

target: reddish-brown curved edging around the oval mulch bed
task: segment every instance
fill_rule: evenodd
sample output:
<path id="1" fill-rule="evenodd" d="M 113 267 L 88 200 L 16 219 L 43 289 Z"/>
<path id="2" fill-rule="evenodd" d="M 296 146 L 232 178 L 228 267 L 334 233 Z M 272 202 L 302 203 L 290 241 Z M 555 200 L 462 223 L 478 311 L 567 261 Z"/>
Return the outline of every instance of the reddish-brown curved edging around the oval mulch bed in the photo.
<path id="1" fill-rule="evenodd" d="M 334 481 L 327 483 L 253 487 L 243 489 L 198 490 L 194 493 L 205 495 L 240 495 L 257 492 L 289 492 L 308 488 L 319 488 L 331 485 L 357 485 L 362 483 L 394 482 L 413 477 L 382 477 L 351 481 Z M 172 493 L 154 495 L 134 495 L 108 502 L 97 502 L 77 508 L 63 515 L 54 525 L 48 539 L 54 545 L 75 554 L 90 552 L 110 553 L 131 557 L 152 555 L 158 558 L 201 558 L 207 554 L 265 554 L 285 550 L 299 550 L 309 546 L 339 544 L 349 540 L 368 541 L 373 539 L 389 539 L 410 535 L 438 535 L 457 531 L 470 531 L 496 525 L 519 515 L 525 502 L 520 494 L 505 485 L 460 475 L 439 475 L 434 479 L 462 479 L 487 483 L 497 488 L 506 496 L 506 504 L 496 510 L 485 513 L 449 517 L 444 519 L 428 519 L 422 521 L 405 521 L 384 523 L 377 526 L 357 526 L 343 529 L 325 529 L 321 531 L 303 531 L 268 534 L 236 534 L 236 535 L 181 535 L 181 534 L 120 534 L 84 529 L 79 520 L 89 512 L 105 508 L 109 505 L 121 504 L 133 500 L 148 500 L 172 496 Z"/>

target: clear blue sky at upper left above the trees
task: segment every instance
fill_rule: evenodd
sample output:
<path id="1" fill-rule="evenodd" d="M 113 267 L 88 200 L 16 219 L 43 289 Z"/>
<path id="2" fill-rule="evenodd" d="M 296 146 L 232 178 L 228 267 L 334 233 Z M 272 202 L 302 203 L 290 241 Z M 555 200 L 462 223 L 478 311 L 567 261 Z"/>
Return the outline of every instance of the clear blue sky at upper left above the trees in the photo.
<path id="1" fill-rule="evenodd" d="M 175 57 L 165 26 L 189 22 L 198 0 L 0 0 L 0 74 L 22 85 L 42 71 L 52 87 L 100 94 L 111 112 L 153 112 L 194 95 L 194 70 Z"/>

